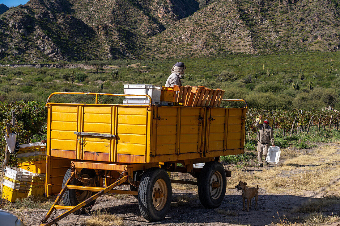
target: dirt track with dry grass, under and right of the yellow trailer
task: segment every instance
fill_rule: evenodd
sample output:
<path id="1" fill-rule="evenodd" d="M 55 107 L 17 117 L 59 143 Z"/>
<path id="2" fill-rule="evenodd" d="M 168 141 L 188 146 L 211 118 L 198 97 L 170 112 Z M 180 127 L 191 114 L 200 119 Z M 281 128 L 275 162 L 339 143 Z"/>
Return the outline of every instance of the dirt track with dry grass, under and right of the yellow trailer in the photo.
<path id="1" fill-rule="evenodd" d="M 320 148 L 322 145 L 318 145 L 314 150 L 307 150 L 304 154 L 306 157 L 314 155 L 316 149 Z M 335 156 L 334 154 L 340 154 L 340 146 L 339 144 L 330 145 L 331 148 L 334 149 L 331 152 L 331 155 L 322 156 L 320 154 L 320 158 L 318 158 L 318 162 L 324 161 L 325 163 L 331 162 L 329 169 L 327 170 L 339 170 L 339 160 L 329 159 L 329 156 Z M 333 150 L 332 149 L 332 150 Z M 320 151 L 319 151 L 320 152 Z M 312 154 L 311 154 L 312 153 Z M 316 154 L 315 154 L 316 155 Z M 301 156 L 300 156 L 301 157 Z M 302 155 L 303 157 L 303 155 Z M 323 159 L 323 160 L 320 160 Z M 60 226 L 69 226 L 69 225 L 85 225 L 86 219 L 90 218 L 90 214 L 98 214 L 98 211 L 107 211 L 111 214 L 117 214 L 124 218 L 124 225 L 270 225 L 272 222 L 277 220 L 279 213 L 280 217 L 283 217 L 283 214 L 288 214 L 287 217 L 289 219 L 296 219 L 297 216 L 302 216 L 304 213 L 299 213 L 295 211 L 295 207 L 301 206 L 303 203 L 307 202 L 310 199 L 310 195 L 315 191 L 321 189 L 313 189 L 313 190 L 282 190 L 277 193 L 269 193 L 267 192 L 269 189 L 266 189 L 266 183 L 270 180 L 270 174 L 276 172 L 278 170 L 281 174 L 286 175 L 286 177 L 294 177 L 303 173 L 305 170 L 310 171 L 313 170 L 313 167 L 322 167 L 320 164 L 310 164 L 300 166 L 294 166 L 290 171 L 282 171 L 279 169 L 280 166 L 283 166 L 283 162 L 285 160 L 280 161 L 280 165 L 258 168 L 258 167 L 244 167 L 244 169 L 238 170 L 241 171 L 245 175 L 253 175 L 250 173 L 254 173 L 254 177 L 261 177 L 263 184 L 260 185 L 259 188 L 259 198 L 257 209 L 250 209 L 249 212 L 242 211 L 242 197 L 241 191 L 236 191 L 234 187 L 237 185 L 230 184 L 227 188 L 226 195 L 224 198 L 224 202 L 220 206 L 219 209 L 205 209 L 198 198 L 197 189 L 188 188 L 188 189 L 174 189 L 172 195 L 172 204 L 169 210 L 168 215 L 162 222 L 150 223 L 146 221 L 140 214 L 138 208 L 138 202 L 132 196 L 124 196 L 120 195 L 105 195 L 105 197 L 96 204 L 92 210 L 88 214 L 82 215 L 73 215 L 66 217 L 65 219 L 58 222 Z M 254 165 L 254 164 L 250 164 Z M 297 164 L 296 164 L 297 165 Z M 326 165 L 325 165 L 326 166 Z M 228 166 L 225 166 L 228 167 Z M 319 169 L 318 168 L 318 169 Z M 326 168 L 324 168 L 326 169 Z M 337 171 L 338 172 L 338 171 Z M 233 173 L 233 172 L 232 172 Z M 277 173 L 277 172 L 276 172 Z M 294 175 L 295 174 L 295 175 Z M 278 174 L 275 174 L 278 175 Z M 302 174 L 301 174 L 302 175 Z M 184 177 L 184 175 L 178 174 L 177 177 Z M 333 180 L 336 177 L 333 178 Z M 228 180 L 237 181 L 238 178 L 228 178 Z M 257 179 L 256 179 L 257 180 Z M 253 182 L 252 182 L 253 183 Z M 256 184 L 248 183 L 249 186 L 256 186 Z M 299 182 L 297 182 L 298 185 Z M 326 189 L 316 196 L 322 196 L 324 194 L 336 194 L 339 195 L 339 189 L 334 189 L 334 186 L 339 188 L 339 182 L 332 185 L 332 189 Z M 127 187 L 125 189 L 128 189 Z M 338 191 L 337 191 L 338 190 Z M 253 202 L 254 203 L 254 202 Z M 323 207 L 322 213 L 324 215 L 331 215 L 332 212 L 335 215 L 340 215 L 340 205 L 334 204 Z M 24 222 L 27 226 L 35 226 L 39 224 L 39 221 L 46 214 L 47 210 L 38 210 L 38 209 L 26 209 L 26 210 L 14 210 L 13 212 L 17 213 L 21 218 L 23 218 Z M 57 214 L 62 213 L 62 210 L 59 210 Z M 292 213 L 290 213 L 292 212 Z M 275 216 L 275 218 L 273 217 Z M 78 220 L 79 217 L 79 220 Z M 77 221 L 78 220 L 78 221 Z"/>

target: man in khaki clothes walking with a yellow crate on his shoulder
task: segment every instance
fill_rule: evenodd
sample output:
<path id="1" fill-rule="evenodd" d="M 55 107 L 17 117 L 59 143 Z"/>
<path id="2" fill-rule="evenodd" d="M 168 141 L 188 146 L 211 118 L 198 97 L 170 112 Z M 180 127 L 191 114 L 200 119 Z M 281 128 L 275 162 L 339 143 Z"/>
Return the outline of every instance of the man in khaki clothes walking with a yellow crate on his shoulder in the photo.
<path id="1" fill-rule="evenodd" d="M 273 129 L 269 126 L 269 120 L 266 119 L 263 122 L 263 125 L 261 125 L 261 118 L 262 115 L 255 123 L 255 126 L 259 129 L 257 134 L 257 160 L 259 167 L 263 167 L 262 154 L 267 156 L 269 143 L 275 147 Z M 269 163 L 265 160 L 265 165 L 268 166 L 268 164 Z"/>

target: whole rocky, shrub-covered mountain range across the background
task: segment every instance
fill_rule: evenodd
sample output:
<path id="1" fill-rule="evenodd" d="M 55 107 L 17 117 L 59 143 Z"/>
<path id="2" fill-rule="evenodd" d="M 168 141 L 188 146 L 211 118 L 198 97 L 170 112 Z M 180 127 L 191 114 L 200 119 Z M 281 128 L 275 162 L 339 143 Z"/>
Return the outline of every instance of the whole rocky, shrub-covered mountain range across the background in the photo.
<path id="1" fill-rule="evenodd" d="M 337 51 L 339 0 L 30 0 L 0 17 L 0 59 Z"/>

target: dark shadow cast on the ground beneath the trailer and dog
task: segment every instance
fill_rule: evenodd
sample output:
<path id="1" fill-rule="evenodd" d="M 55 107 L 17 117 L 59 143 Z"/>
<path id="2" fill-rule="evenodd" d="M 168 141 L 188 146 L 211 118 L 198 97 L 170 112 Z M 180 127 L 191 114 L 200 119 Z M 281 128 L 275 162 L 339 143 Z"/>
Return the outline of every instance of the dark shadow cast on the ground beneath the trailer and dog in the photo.
<path id="1" fill-rule="evenodd" d="M 184 197 L 184 200 L 187 197 L 188 201 L 176 202 L 180 197 Z M 222 211 L 204 208 L 198 199 L 198 195 L 174 193 L 172 200 L 173 202 L 168 215 L 162 222 L 151 223 L 146 221 L 139 212 L 137 200 L 101 210 L 106 210 L 112 214 L 128 213 L 128 216 L 124 218 L 125 224 L 127 225 L 204 225 L 205 223 L 225 223 L 264 226 L 275 221 L 276 218 L 273 218 L 273 215 L 277 217 L 277 211 L 280 215 L 285 214 L 295 206 L 300 206 L 306 202 L 308 197 L 295 195 L 259 195 L 257 209 L 253 209 L 253 206 L 249 212 L 242 211 L 241 193 L 240 195 L 226 195 L 224 202 L 220 206 Z M 255 204 L 255 200 L 253 200 L 252 204 Z M 224 213 L 219 213 L 223 211 Z"/>

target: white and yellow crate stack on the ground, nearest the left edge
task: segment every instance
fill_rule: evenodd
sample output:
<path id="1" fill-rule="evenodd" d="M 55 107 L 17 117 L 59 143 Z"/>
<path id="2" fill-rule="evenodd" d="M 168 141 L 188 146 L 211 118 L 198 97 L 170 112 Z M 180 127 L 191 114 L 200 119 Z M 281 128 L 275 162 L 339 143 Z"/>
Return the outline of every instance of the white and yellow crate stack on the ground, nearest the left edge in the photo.
<path id="1" fill-rule="evenodd" d="M 31 172 L 20 168 L 6 167 L 2 197 L 10 202 L 27 197 L 31 183 Z"/>

